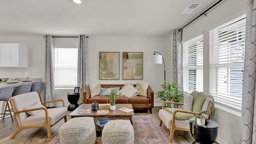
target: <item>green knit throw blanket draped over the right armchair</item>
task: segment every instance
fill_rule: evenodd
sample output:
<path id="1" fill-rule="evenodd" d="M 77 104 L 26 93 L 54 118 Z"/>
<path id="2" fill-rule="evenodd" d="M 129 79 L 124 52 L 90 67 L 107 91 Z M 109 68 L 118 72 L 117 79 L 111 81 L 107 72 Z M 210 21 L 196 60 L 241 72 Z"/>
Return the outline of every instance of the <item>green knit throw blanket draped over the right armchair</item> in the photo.
<path id="1" fill-rule="evenodd" d="M 210 94 L 206 94 L 205 92 L 198 92 L 194 91 L 191 93 L 193 97 L 193 112 L 200 112 L 202 109 L 202 105 L 204 103 L 205 98 L 212 98 L 212 107 L 211 107 L 211 114 L 214 114 L 214 98 Z M 174 110 L 177 110 L 178 108 L 164 108 L 171 114 L 173 114 Z M 188 113 L 183 113 L 183 112 L 177 112 L 175 114 L 175 119 L 176 120 L 189 120 L 190 118 L 195 117 L 194 114 L 188 114 Z"/>

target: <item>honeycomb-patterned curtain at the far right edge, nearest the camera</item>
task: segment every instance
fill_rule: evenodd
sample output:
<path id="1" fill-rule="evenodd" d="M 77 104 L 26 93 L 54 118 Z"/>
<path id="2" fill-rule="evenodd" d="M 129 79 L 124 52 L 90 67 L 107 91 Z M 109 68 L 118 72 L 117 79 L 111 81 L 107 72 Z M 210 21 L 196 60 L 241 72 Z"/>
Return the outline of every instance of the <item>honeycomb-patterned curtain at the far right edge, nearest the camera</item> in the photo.
<path id="1" fill-rule="evenodd" d="M 241 144 L 256 144 L 256 0 L 247 0 Z"/>

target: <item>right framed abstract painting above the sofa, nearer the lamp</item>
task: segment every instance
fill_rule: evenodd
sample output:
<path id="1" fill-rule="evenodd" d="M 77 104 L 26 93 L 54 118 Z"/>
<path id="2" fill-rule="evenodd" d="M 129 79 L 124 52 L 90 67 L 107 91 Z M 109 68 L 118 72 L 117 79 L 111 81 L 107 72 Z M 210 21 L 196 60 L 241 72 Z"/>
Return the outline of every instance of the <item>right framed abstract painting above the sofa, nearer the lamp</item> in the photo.
<path id="1" fill-rule="evenodd" d="M 143 52 L 123 52 L 123 80 L 143 80 Z"/>

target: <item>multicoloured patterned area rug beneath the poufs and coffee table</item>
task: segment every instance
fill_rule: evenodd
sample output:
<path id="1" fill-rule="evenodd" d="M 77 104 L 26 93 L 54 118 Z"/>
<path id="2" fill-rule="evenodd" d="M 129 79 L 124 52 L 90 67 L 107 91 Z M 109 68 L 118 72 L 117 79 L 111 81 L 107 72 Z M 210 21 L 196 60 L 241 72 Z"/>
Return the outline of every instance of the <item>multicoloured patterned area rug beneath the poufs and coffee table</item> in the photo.
<path id="1" fill-rule="evenodd" d="M 134 144 L 174 144 L 154 116 L 132 116 Z M 59 134 L 49 144 L 61 144 Z M 97 136 L 95 144 L 102 144 Z"/>

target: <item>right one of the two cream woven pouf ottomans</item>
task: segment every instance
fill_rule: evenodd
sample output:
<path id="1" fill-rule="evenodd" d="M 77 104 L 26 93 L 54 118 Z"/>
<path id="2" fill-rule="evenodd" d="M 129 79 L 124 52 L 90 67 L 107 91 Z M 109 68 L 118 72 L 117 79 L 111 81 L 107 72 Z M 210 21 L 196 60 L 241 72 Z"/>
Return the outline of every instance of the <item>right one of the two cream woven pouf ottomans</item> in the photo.
<path id="1" fill-rule="evenodd" d="M 134 144 L 130 120 L 110 120 L 102 130 L 102 144 Z"/>

